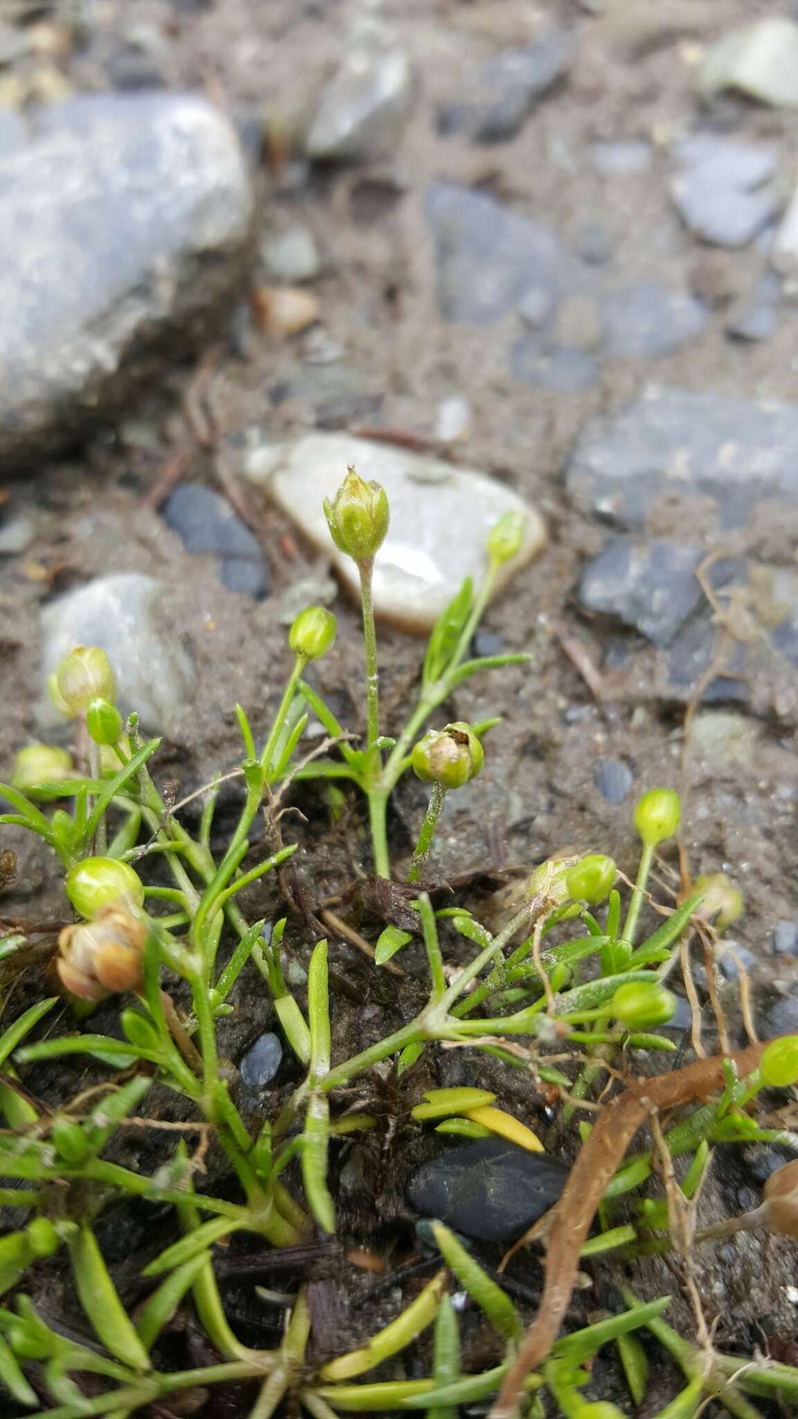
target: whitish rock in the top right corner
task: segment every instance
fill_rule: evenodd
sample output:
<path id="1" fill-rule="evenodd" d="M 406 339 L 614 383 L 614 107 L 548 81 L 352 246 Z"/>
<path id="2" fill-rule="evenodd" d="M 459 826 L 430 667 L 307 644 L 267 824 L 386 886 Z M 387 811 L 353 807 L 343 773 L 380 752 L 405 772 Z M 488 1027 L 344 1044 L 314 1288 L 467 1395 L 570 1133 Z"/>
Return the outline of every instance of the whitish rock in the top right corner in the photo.
<path id="1" fill-rule="evenodd" d="M 771 16 L 730 30 L 706 53 L 704 94 L 737 89 L 761 104 L 798 108 L 798 24 Z"/>

